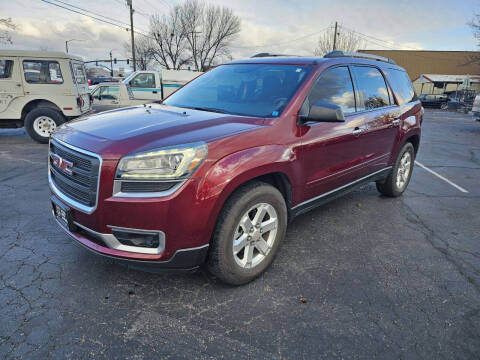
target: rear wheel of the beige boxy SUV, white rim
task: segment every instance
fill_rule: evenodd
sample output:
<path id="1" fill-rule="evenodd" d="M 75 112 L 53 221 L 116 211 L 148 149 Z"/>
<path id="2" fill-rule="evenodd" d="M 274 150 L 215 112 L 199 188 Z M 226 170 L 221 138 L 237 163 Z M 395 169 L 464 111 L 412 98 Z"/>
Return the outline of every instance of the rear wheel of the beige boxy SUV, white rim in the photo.
<path id="1" fill-rule="evenodd" d="M 25 131 L 35 141 L 46 144 L 55 129 L 65 122 L 63 114 L 50 108 L 36 108 L 25 116 Z"/>

